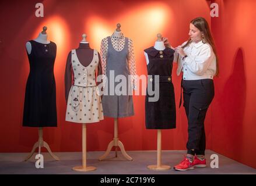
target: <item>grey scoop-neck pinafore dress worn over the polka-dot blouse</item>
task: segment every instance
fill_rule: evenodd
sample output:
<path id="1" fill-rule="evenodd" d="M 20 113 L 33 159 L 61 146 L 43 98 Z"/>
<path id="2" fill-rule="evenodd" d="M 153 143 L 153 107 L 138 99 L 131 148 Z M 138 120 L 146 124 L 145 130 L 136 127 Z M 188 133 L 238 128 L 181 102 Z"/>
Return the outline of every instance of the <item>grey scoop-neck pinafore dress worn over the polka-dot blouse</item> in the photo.
<path id="1" fill-rule="evenodd" d="M 125 38 L 124 49 L 121 51 L 114 49 L 110 37 L 107 37 L 107 40 L 107 83 L 104 87 L 102 98 L 104 116 L 114 118 L 134 116 L 134 103 L 132 101 L 132 87 L 128 67 L 128 38 Z M 114 76 L 111 76 L 114 78 L 110 78 L 110 74 L 113 74 L 113 72 Z M 116 80 L 117 82 L 115 82 L 115 78 L 118 75 L 123 75 L 126 83 L 122 80 Z M 115 90 L 111 89 L 111 84 L 114 85 Z M 124 86 L 120 87 L 121 84 L 125 85 L 126 90 L 122 89 Z"/>

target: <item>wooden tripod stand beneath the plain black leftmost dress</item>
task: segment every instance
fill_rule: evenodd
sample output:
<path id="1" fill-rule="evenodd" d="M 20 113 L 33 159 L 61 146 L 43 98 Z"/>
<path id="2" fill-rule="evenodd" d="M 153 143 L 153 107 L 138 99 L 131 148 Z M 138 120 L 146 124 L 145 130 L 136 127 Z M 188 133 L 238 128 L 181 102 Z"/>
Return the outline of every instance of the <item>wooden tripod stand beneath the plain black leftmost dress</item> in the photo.
<path id="1" fill-rule="evenodd" d="M 32 151 L 30 152 L 29 156 L 27 156 L 27 158 L 25 159 L 25 161 L 29 160 L 31 158 L 31 156 L 33 155 L 34 151 L 36 151 L 36 148 L 38 147 L 38 153 L 41 153 L 41 147 L 45 147 L 47 149 L 47 151 L 50 153 L 50 155 L 52 156 L 52 158 L 54 158 L 55 160 L 59 161 L 60 159 L 54 155 L 51 152 L 50 146 L 47 144 L 47 142 L 45 142 L 43 140 L 43 128 L 39 127 L 38 128 L 38 141 L 34 144 Z"/>

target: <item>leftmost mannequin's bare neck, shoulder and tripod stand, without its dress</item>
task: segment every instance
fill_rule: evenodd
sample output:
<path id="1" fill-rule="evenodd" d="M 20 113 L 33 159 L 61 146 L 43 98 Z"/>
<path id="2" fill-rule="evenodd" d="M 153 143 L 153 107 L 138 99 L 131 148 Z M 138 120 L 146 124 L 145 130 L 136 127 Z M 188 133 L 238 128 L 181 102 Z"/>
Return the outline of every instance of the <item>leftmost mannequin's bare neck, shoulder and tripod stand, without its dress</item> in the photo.
<path id="1" fill-rule="evenodd" d="M 47 40 L 47 33 L 46 33 L 47 27 L 44 26 L 43 27 L 43 31 L 41 31 L 41 33 L 39 33 L 38 37 L 36 39 L 34 39 L 34 41 L 36 42 L 40 42 L 42 44 L 50 44 L 50 41 Z M 32 47 L 31 47 L 31 43 L 27 42 L 26 43 L 26 49 L 27 49 L 27 53 L 31 53 Z M 51 152 L 50 146 L 47 144 L 47 142 L 45 142 L 43 140 L 43 127 L 38 127 L 38 141 L 34 144 L 29 156 L 27 156 L 27 158 L 25 159 L 25 161 L 29 160 L 31 158 L 31 156 L 33 155 L 34 151 L 36 151 L 36 148 L 38 147 L 38 153 L 41 153 L 41 147 L 45 147 L 47 149 L 47 151 L 50 153 L 50 155 L 52 156 L 52 158 L 54 158 L 55 160 L 60 160 L 56 155 L 54 155 Z"/>

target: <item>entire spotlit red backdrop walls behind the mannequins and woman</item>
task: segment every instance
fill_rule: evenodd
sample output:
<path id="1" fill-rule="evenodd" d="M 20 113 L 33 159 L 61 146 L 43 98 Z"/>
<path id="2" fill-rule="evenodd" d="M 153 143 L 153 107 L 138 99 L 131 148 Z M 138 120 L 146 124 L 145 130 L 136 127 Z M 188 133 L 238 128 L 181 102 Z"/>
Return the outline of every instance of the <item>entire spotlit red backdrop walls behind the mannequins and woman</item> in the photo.
<path id="1" fill-rule="evenodd" d="M 57 44 L 54 73 L 58 112 L 58 127 L 44 128 L 44 140 L 51 146 L 52 151 L 66 152 L 82 149 L 82 127 L 65 121 L 64 98 L 66 56 L 71 49 L 78 47 L 82 33 L 88 35 L 87 40 L 91 47 L 99 51 L 101 39 L 111 35 L 115 25 L 121 23 L 122 32 L 134 41 L 137 73 L 141 75 L 146 74 L 143 49 L 154 45 L 157 33 L 168 37 L 171 44 L 176 47 L 187 40 L 190 20 L 203 16 L 212 25 L 220 55 L 220 77 L 215 80 L 216 95 L 205 121 L 206 148 L 256 167 L 255 160 L 253 163 L 250 162 L 256 154 L 255 150 L 248 152 L 250 148 L 255 149 L 253 137 L 256 128 L 252 125 L 253 117 L 250 116 L 253 113 L 252 101 L 255 101 L 255 86 L 252 81 L 255 53 L 250 53 L 253 40 L 248 41 L 250 45 L 243 42 L 248 39 L 248 30 L 253 31 L 254 26 L 249 24 L 253 20 L 246 24 L 241 17 L 230 15 L 230 7 L 236 8 L 239 12 L 239 5 L 232 4 L 231 1 L 222 2 L 221 10 L 225 10 L 225 13 L 221 16 L 225 17 L 211 19 L 209 3 L 205 0 L 114 0 L 111 3 L 43 1 L 45 17 L 38 18 L 34 16 L 34 6 L 37 2 L 7 1 L 1 2 L 0 5 L 0 76 L 3 87 L 0 96 L 0 152 L 29 152 L 37 140 L 37 128 L 22 127 L 24 92 L 29 74 L 29 62 L 24 45 L 26 41 L 37 37 L 44 25 L 48 27 L 50 40 Z M 251 10 L 246 15 L 247 19 L 251 19 L 253 6 L 247 5 L 246 2 L 241 5 L 245 6 L 246 11 L 243 12 Z M 240 22 L 237 22 L 237 19 Z M 226 20 L 233 21 L 227 25 Z M 246 28 L 239 27 L 240 23 Z M 250 37 L 252 35 L 253 33 Z M 176 76 L 176 68 L 174 65 L 173 83 L 176 87 L 178 105 L 181 77 Z M 144 102 L 144 96 L 134 96 L 135 116 L 119 121 L 119 138 L 127 150 L 156 149 L 156 130 L 145 130 Z M 87 125 L 87 150 L 106 150 L 108 142 L 113 139 L 113 133 L 113 119 L 106 118 L 100 123 Z M 236 139 L 239 141 L 234 141 Z M 185 149 L 187 119 L 183 108 L 177 108 L 177 128 L 163 131 L 162 141 L 163 149 Z M 236 152 L 237 156 L 234 152 L 236 149 L 239 150 Z"/>

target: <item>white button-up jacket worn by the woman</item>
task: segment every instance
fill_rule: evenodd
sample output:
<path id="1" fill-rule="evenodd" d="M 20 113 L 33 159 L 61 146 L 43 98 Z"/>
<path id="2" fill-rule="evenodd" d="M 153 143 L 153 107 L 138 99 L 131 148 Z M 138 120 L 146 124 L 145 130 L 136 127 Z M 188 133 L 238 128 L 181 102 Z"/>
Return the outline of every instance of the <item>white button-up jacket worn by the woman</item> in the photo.
<path id="1" fill-rule="evenodd" d="M 181 46 L 187 43 L 184 42 Z M 174 62 L 178 62 L 177 75 L 183 71 L 183 80 L 201 80 L 206 78 L 213 79 L 216 73 L 216 56 L 211 45 L 204 44 L 202 41 L 191 42 L 184 48 L 187 58 L 178 56 L 174 53 Z M 177 61 L 178 58 L 178 61 Z"/>

